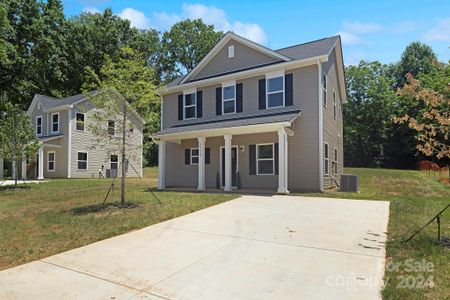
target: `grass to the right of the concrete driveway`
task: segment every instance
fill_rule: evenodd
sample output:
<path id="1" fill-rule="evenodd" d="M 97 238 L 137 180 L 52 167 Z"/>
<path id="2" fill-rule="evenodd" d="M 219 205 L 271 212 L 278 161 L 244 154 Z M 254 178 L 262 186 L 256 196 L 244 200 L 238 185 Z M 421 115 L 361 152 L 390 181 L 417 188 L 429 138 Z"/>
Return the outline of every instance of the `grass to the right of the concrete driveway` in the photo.
<path id="1" fill-rule="evenodd" d="M 400 241 L 425 225 L 450 202 L 450 185 L 438 182 L 433 174 L 420 171 L 347 168 L 345 172 L 359 175 L 360 193 L 328 191 L 325 196 L 390 201 L 388 267 L 383 298 L 449 299 L 450 243 L 447 247 L 437 243 L 436 222 L 407 244 Z M 323 197 L 324 194 L 310 196 Z M 447 239 L 449 229 L 450 209 L 441 219 L 441 233 Z M 407 261 L 408 259 L 414 261 Z M 422 268 L 417 272 L 407 272 L 405 263 L 408 262 L 430 262 L 433 264 L 433 270 L 425 272 Z M 396 265 L 398 263 L 402 265 Z M 399 268 L 396 270 L 395 266 Z M 413 266 L 416 267 L 415 264 Z M 434 283 L 432 288 L 429 287 L 431 283 Z"/>

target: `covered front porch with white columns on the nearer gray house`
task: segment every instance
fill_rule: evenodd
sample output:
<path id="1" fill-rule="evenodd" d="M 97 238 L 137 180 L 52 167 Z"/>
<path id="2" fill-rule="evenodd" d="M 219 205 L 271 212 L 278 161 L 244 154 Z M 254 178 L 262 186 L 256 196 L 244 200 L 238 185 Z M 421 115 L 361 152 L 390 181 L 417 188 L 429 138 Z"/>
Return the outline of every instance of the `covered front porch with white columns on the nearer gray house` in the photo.
<path id="1" fill-rule="evenodd" d="M 296 116 L 241 127 L 161 132 L 156 136 L 158 189 L 289 193 L 288 141 Z"/>

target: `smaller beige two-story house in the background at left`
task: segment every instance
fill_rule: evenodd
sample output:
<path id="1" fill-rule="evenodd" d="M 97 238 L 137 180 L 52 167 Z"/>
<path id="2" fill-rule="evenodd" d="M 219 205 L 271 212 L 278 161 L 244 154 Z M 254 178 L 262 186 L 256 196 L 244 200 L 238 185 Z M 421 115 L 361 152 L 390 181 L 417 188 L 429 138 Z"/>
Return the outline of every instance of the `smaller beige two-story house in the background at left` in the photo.
<path id="1" fill-rule="evenodd" d="M 101 91 L 94 91 L 99 93 Z M 91 114 L 96 109 L 89 95 L 64 99 L 35 95 L 28 115 L 41 146 L 36 159 L 22 162 L 22 178 L 98 178 L 120 173 L 120 153 L 108 153 L 97 143 L 98 136 L 89 130 Z M 127 176 L 142 176 L 143 121 L 132 113 L 128 143 L 133 145 L 127 157 Z M 115 120 L 109 120 L 110 138 L 122 138 Z M 120 135 L 120 136 L 119 136 Z M 110 143 L 105 138 L 104 144 Z M 26 176 L 23 176 L 26 170 Z"/>

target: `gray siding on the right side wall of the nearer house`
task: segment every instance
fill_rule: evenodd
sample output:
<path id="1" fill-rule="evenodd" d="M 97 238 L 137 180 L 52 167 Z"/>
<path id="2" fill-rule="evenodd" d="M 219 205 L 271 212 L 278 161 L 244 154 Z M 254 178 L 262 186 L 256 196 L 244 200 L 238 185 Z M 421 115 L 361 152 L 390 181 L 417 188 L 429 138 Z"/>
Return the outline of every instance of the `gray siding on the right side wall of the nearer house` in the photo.
<path id="1" fill-rule="evenodd" d="M 323 65 L 323 72 L 327 75 L 327 107 L 323 107 L 323 140 L 329 147 L 329 174 L 332 173 L 332 161 L 334 160 L 334 149 L 338 149 L 338 176 L 336 180 L 339 182 L 340 174 L 343 173 L 343 123 L 342 115 L 339 114 L 339 85 L 337 81 L 336 54 L 332 51 L 329 60 Z M 336 119 L 333 114 L 333 90 L 336 92 Z M 325 155 L 324 155 L 325 157 Z M 324 176 L 324 188 L 336 186 L 331 180 L 331 176 Z"/>

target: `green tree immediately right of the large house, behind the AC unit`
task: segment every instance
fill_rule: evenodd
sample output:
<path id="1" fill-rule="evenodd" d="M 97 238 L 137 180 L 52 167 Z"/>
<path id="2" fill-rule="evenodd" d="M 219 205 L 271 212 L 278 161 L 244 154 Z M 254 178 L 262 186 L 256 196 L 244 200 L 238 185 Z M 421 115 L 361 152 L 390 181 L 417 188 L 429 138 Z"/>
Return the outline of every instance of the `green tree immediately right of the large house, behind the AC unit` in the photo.
<path id="1" fill-rule="evenodd" d="M 344 106 L 345 164 L 382 166 L 391 105 L 395 98 L 392 81 L 379 62 L 361 61 L 345 70 L 348 103 Z"/>

